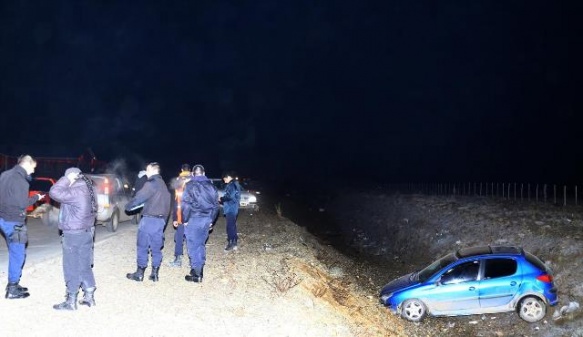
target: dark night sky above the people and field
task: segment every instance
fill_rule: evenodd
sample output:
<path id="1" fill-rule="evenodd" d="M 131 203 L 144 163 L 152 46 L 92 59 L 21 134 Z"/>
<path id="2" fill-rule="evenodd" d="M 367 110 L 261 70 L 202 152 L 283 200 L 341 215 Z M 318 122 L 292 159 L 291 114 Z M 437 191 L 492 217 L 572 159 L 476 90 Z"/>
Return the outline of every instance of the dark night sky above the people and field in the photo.
<path id="1" fill-rule="evenodd" d="M 0 151 L 581 182 L 578 1 L 2 1 Z"/>

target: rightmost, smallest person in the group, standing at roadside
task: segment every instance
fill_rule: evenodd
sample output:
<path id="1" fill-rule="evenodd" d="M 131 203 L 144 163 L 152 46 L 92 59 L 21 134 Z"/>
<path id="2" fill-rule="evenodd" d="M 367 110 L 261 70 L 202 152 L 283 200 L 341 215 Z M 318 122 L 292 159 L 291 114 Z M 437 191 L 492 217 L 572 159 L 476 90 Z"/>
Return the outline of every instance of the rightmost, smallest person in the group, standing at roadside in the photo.
<path id="1" fill-rule="evenodd" d="M 239 214 L 239 202 L 241 201 L 241 185 L 236 179 L 237 174 L 228 171 L 223 174 L 225 193 L 220 199 L 223 205 L 223 215 L 227 220 L 227 246 L 225 252 L 237 250 L 237 215 Z"/>

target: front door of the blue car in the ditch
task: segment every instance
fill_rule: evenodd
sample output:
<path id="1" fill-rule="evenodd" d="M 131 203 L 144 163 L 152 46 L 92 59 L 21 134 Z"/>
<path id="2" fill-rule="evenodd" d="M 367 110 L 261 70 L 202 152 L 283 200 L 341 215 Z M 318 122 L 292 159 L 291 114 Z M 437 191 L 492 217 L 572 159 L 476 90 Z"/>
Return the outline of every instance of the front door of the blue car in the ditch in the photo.
<path id="1" fill-rule="evenodd" d="M 480 262 L 472 260 L 448 268 L 425 298 L 434 314 L 457 314 L 480 307 Z"/>

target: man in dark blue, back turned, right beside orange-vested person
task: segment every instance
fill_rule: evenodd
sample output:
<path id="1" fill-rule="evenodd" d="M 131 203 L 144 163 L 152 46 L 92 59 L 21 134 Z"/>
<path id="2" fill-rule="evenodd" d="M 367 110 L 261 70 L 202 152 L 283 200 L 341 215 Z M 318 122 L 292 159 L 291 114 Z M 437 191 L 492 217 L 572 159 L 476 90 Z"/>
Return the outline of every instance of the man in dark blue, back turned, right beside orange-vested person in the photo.
<path id="1" fill-rule="evenodd" d="M 202 282 L 206 262 L 205 243 L 209 229 L 219 211 L 219 194 L 212 181 L 205 176 L 204 167 L 192 168 L 193 178 L 186 183 L 182 195 L 182 217 L 186 246 L 190 258 L 190 274 L 184 279 Z"/>

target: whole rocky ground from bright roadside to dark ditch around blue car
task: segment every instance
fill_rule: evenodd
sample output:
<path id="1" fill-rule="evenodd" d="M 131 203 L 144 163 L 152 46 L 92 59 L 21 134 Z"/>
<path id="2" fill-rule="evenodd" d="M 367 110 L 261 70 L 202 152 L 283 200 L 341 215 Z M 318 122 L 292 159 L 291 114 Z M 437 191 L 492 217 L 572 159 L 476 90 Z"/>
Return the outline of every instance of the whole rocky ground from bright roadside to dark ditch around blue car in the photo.
<path id="1" fill-rule="evenodd" d="M 583 336 L 580 311 L 555 320 L 558 307 L 535 324 L 514 313 L 412 324 L 378 304 L 378 291 L 390 279 L 456 247 L 479 244 L 524 246 L 555 270 L 559 307 L 582 303 L 579 209 L 370 192 L 312 204 L 283 196 L 262 206 L 258 214 L 241 214 L 240 246 L 233 253 L 223 251 L 219 220 L 208 241 L 202 284 L 184 281 L 188 266 L 165 265 L 174 248 L 170 227 L 156 283 L 125 277 L 135 270 L 135 230 L 96 245 L 92 308 L 52 309 L 65 290 L 60 258 L 26 265 L 21 283 L 31 297 L 2 301 L 1 334 Z"/>

